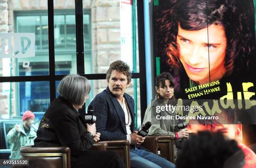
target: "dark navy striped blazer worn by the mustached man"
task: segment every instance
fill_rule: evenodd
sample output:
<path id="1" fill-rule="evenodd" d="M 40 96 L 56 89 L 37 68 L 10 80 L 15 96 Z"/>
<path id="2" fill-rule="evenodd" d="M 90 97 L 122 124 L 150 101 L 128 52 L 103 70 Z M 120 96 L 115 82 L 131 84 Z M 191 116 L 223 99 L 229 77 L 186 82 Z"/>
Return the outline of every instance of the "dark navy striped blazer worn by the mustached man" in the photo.
<path id="1" fill-rule="evenodd" d="M 126 93 L 124 98 L 131 112 L 131 132 L 133 132 L 135 130 L 134 101 Z M 124 111 L 118 99 L 110 92 L 108 87 L 97 94 L 90 105 L 93 106 L 97 117 L 96 130 L 101 134 L 100 141 L 127 139 Z"/>

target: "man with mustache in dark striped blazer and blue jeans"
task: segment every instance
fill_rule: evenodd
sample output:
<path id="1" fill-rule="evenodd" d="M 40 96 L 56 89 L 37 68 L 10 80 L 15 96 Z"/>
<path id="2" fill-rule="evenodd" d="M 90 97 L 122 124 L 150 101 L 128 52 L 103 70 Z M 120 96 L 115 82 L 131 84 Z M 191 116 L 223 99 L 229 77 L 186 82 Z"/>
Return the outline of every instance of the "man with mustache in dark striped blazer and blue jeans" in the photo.
<path id="1" fill-rule="evenodd" d="M 131 143 L 132 168 L 174 168 L 174 164 L 148 152 L 141 143 L 144 137 L 135 131 L 133 98 L 125 93 L 131 84 L 130 67 L 123 61 L 110 64 L 106 79 L 108 87 L 97 94 L 91 104 L 97 117 L 96 129 L 100 141 L 127 139 Z"/>

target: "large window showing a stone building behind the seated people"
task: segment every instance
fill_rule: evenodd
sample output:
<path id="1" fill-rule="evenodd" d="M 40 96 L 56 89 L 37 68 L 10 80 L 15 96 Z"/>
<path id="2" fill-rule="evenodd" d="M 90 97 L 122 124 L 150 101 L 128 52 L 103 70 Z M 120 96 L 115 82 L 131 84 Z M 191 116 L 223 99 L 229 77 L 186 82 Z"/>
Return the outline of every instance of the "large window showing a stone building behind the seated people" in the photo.
<path id="1" fill-rule="evenodd" d="M 114 0 L 106 5 L 95 0 L 63 0 L 63 3 L 49 3 L 54 11 L 47 10 L 47 4 L 38 6 L 34 1 L 27 6 L 22 0 L 8 3 L 9 13 L 13 13 L 7 17 L 10 30 L 0 31 L 35 33 L 35 56 L 0 59 L 2 117 L 17 118 L 31 110 L 39 121 L 58 96 L 57 86 L 67 74 L 80 74 L 90 80 L 88 105 L 106 88 L 105 73 L 110 63 L 123 60 L 133 74 L 127 93 L 135 100 L 136 125 L 140 125 L 142 102 L 142 111 L 146 109 L 143 87 L 146 75 L 139 67 L 139 63 L 145 63 L 138 55 L 137 2 L 124 4 Z M 83 8 L 75 9 L 75 3 Z M 29 62 L 29 66 L 24 67 L 24 62 Z"/>

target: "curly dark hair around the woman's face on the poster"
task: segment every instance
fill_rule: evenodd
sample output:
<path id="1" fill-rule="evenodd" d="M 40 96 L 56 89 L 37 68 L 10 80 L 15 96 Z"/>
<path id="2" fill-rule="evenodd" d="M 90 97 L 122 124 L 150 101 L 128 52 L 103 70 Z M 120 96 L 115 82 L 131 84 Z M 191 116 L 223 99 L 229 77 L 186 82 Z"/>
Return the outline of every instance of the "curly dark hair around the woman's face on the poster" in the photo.
<path id="1" fill-rule="evenodd" d="M 247 0 L 248 1 L 248 0 Z M 159 49 L 167 56 L 167 63 L 180 67 L 179 45 L 176 43 L 178 25 L 184 30 L 201 30 L 210 25 L 220 25 L 225 30 L 226 76 L 241 72 L 255 48 L 254 32 L 249 18 L 254 18 L 253 2 L 242 5 L 239 0 L 169 0 L 156 14 L 156 36 Z M 243 2 L 245 3 L 245 2 Z M 160 10 L 161 8 L 161 10 Z M 158 9 L 157 9 L 158 10 Z M 254 22 L 253 22 L 254 23 Z M 251 24 L 251 25 L 250 25 Z"/>

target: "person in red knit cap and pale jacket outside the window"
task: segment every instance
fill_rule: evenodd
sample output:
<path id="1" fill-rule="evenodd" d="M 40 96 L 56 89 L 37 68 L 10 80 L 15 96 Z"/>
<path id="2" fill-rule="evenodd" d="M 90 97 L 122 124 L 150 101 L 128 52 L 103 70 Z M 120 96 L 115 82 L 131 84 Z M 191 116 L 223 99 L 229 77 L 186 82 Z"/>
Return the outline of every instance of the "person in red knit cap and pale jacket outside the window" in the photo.
<path id="1" fill-rule="evenodd" d="M 16 124 L 7 136 L 7 142 L 11 147 L 11 159 L 20 159 L 20 147 L 34 145 L 36 132 L 31 128 L 34 123 L 35 115 L 31 111 L 25 111 L 22 117 L 22 123 Z"/>

